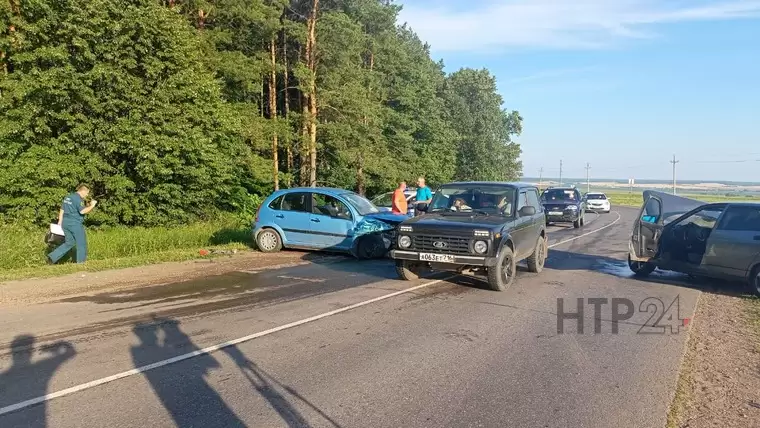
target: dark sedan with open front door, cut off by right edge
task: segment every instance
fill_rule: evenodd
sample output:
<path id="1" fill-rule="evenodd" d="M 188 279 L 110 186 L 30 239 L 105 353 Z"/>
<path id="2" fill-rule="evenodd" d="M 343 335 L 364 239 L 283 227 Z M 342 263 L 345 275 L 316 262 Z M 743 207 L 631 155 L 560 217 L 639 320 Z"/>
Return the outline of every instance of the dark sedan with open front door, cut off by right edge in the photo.
<path id="1" fill-rule="evenodd" d="M 628 250 L 636 275 L 659 268 L 741 280 L 760 296 L 760 204 L 710 204 L 647 190 Z"/>

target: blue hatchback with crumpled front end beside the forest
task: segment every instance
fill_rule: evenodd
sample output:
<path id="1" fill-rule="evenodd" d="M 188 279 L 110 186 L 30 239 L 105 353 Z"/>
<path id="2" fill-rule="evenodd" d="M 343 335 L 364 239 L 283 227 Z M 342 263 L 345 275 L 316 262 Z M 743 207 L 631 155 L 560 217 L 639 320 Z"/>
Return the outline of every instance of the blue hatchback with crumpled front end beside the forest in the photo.
<path id="1" fill-rule="evenodd" d="M 408 215 L 381 212 L 363 196 L 345 189 L 306 187 L 278 190 L 259 207 L 253 239 L 267 253 L 282 248 L 348 252 L 359 258 L 384 255 L 392 231 Z"/>

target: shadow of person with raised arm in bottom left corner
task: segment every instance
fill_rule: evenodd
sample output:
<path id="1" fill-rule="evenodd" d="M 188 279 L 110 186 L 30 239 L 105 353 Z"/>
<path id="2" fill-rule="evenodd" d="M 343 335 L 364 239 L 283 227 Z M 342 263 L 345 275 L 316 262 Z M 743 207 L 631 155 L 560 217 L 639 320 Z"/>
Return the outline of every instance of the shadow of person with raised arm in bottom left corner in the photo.
<path id="1" fill-rule="evenodd" d="M 55 342 L 35 349 L 35 341 L 34 336 L 19 335 L 11 342 L 11 367 L 0 373 L 0 408 L 46 395 L 55 372 L 76 355 L 69 342 Z M 44 428 L 47 403 L 0 415 L 0 426 Z"/>

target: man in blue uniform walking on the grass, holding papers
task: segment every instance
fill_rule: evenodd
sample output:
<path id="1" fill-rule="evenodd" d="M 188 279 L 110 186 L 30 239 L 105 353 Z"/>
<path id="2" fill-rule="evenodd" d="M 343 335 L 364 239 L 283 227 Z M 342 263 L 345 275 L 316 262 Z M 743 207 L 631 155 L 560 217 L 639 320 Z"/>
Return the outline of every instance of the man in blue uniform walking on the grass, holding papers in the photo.
<path id="1" fill-rule="evenodd" d="M 63 229 L 65 241 L 61 246 L 48 254 L 48 263 L 55 264 L 72 248 L 76 247 L 77 263 L 87 260 L 87 238 L 84 234 L 84 215 L 92 211 L 98 203 L 96 200 L 84 204 L 84 199 L 90 194 L 85 185 L 77 187 L 77 191 L 63 198 L 61 210 L 58 212 L 58 224 Z"/>

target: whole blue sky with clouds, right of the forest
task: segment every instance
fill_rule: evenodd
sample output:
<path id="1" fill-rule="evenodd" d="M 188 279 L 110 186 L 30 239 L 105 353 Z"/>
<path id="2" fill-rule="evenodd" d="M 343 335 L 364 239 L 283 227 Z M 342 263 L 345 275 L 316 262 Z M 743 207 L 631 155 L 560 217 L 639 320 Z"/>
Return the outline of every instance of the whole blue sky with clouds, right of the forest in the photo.
<path id="1" fill-rule="evenodd" d="M 447 72 L 488 68 L 523 173 L 760 182 L 760 0 L 399 0 Z"/>

